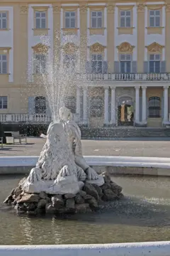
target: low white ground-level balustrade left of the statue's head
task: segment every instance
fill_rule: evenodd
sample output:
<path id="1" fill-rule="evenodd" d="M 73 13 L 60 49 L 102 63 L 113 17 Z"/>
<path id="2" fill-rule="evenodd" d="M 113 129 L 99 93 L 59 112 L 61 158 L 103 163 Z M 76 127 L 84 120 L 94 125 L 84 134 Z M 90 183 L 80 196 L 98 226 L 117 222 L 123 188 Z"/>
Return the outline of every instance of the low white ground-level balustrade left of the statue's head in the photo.
<path id="1" fill-rule="evenodd" d="M 49 124 L 52 117 L 47 114 L 0 114 L 0 122 L 6 124 Z"/>

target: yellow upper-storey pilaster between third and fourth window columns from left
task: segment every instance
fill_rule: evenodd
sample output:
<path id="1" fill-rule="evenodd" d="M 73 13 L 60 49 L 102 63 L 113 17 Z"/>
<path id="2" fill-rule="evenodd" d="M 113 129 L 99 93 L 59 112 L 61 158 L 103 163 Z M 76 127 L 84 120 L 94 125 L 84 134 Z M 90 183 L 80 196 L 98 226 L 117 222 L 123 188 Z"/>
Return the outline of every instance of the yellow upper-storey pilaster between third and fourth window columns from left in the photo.
<path id="1" fill-rule="evenodd" d="M 80 12 L 80 65 L 81 73 L 85 73 L 86 55 L 87 55 L 87 4 L 82 2 L 79 4 Z"/>

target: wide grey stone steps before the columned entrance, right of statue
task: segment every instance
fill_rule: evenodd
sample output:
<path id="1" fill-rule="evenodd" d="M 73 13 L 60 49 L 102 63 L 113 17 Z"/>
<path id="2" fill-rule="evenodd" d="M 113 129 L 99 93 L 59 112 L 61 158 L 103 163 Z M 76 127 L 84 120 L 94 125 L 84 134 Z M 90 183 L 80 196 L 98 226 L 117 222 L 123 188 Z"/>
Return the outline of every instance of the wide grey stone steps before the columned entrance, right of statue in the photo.
<path id="1" fill-rule="evenodd" d="M 167 128 L 81 128 L 82 139 L 113 137 L 170 137 Z"/>

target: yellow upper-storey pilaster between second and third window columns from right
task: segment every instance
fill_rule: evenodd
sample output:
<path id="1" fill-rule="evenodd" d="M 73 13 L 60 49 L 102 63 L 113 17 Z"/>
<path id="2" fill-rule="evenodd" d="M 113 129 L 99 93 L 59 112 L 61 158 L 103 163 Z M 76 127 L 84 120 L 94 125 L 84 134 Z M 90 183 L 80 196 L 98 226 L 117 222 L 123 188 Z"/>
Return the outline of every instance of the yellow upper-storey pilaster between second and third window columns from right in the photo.
<path id="1" fill-rule="evenodd" d="M 107 5 L 107 60 L 108 60 L 108 73 L 114 72 L 114 31 L 115 29 L 115 4 L 112 1 L 108 1 Z"/>

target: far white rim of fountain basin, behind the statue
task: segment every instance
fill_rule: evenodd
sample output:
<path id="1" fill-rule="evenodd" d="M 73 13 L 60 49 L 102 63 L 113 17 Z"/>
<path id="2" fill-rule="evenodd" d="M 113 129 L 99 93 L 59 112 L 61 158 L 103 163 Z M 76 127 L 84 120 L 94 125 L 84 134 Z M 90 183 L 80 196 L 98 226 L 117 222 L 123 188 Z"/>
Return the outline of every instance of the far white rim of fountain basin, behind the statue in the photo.
<path id="1" fill-rule="evenodd" d="M 132 156 L 84 156 L 98 174 L 170 176 L 170 158 Z M 0 174 L 29 174 L 38 156 L 2 156 Z"/>

